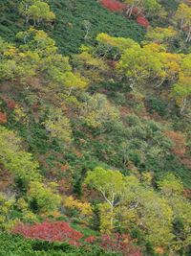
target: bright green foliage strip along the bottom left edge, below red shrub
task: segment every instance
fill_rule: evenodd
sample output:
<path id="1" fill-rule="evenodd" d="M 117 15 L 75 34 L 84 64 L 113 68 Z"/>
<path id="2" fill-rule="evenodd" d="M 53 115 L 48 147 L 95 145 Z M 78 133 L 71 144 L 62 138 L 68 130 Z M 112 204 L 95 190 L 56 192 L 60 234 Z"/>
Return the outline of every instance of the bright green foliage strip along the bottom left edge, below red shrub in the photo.
<path id="1" fill-rule="evenodd" d="M 1 233 L 0 255 L 8 256 L 121 256 L 107 253 L 97 246 L 74 247 L 70 244 L 53 244 L 35 240 L 26 240 L 19 236 Z"/>

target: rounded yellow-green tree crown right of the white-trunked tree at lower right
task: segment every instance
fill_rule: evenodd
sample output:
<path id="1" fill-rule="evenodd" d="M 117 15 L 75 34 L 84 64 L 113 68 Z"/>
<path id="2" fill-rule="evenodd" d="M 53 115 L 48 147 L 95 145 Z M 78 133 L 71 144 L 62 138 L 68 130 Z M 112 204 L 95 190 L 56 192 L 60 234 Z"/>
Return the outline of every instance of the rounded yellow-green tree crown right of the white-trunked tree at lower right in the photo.
<path id="1" fill-rule="evenodd" d="M 146 239 L 154 247 L 169 248 L 174 239 L 173 234 L 173 210 L 168 204 L 168 200 L 160 198 L 152 190 L 142 190 L 138 198 L 138 212 L 140 219 L 139 228 L 146 230 Z"/>

